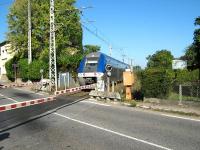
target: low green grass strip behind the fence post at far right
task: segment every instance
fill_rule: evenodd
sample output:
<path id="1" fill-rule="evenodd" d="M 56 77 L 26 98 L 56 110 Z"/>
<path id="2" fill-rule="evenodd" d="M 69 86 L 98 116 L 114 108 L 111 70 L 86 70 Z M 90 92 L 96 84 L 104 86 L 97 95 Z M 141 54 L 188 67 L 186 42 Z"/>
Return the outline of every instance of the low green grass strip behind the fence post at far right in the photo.
<path id="1" fill-rule="evenodd" d="M 179 94 L 177 94 L 177 93 L 171 93 L 167 100 L 178 101 L 179 100 Z M 196 101 L 196 102 L 200 102 L 200 98 L 199 97 L 191 97 L 191 96 L 182 96 L 182 100 L 183 101 Z"/>

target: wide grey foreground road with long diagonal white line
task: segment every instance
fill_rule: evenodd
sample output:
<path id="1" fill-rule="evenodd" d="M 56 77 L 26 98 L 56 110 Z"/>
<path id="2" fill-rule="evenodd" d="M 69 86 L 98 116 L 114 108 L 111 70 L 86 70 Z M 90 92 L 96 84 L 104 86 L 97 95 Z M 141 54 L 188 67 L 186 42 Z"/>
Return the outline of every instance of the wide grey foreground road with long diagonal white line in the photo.
<path id="1" fill-rule="evenodd" d="M 198 120 L 82 101 L 1 132 L 0 149 L 199 150 L 199 127 Z"/>

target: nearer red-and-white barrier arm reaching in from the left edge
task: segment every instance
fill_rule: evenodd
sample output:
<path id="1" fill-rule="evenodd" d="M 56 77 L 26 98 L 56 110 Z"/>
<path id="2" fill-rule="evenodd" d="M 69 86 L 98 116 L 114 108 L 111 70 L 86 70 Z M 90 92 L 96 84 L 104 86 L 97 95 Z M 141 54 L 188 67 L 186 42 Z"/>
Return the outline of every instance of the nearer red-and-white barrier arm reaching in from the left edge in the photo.
<path id="1" fill-rule="evenodd" d="M 12 110 L 12 109 L 17 109 L 17 108 L 22 108 L 22 107 L 28 107 L 28 106 L 37 105 L 37 104 L 42 104 L 42 103 L 50 102 L 50 101 L 53 101 L 53 100 L 55 100 L 55 96 L 40 98 L 40 99 L 34 99 L 34 100 L 29 100 L 29 101 L 23 101 L 23 102 L 19 102 L 19 103 L 1 105 L 0 106 L 0 112 Z"/>

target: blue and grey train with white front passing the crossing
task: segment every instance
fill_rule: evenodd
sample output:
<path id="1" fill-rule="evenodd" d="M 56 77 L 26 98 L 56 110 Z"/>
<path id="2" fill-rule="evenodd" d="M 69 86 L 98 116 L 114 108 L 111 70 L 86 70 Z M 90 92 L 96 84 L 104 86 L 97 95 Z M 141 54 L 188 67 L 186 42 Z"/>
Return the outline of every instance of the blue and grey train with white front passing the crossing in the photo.
<path id="1" fill-rule="evenodd" d="M 123 80 L 123 72 L 130 66 L 102 52 L 92 52 L 86 55 L 78 67 L 78 80 L 80 85 L 97 83 L 99 91 L 104 91 L 108 70 L 110 68 L 110 81 L 120 82 Z"/>

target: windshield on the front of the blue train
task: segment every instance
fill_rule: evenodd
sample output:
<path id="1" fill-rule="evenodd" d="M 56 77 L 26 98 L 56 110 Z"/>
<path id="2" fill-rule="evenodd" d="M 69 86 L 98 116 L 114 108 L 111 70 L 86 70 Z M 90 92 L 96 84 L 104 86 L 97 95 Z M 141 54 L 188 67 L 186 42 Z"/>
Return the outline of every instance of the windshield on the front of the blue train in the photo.
<path id="1" fill-rule="evenodd" d="M 85 64 L 85 72 L 96 72 L 98 61 L 97 59 L 87 59 Z"/>

